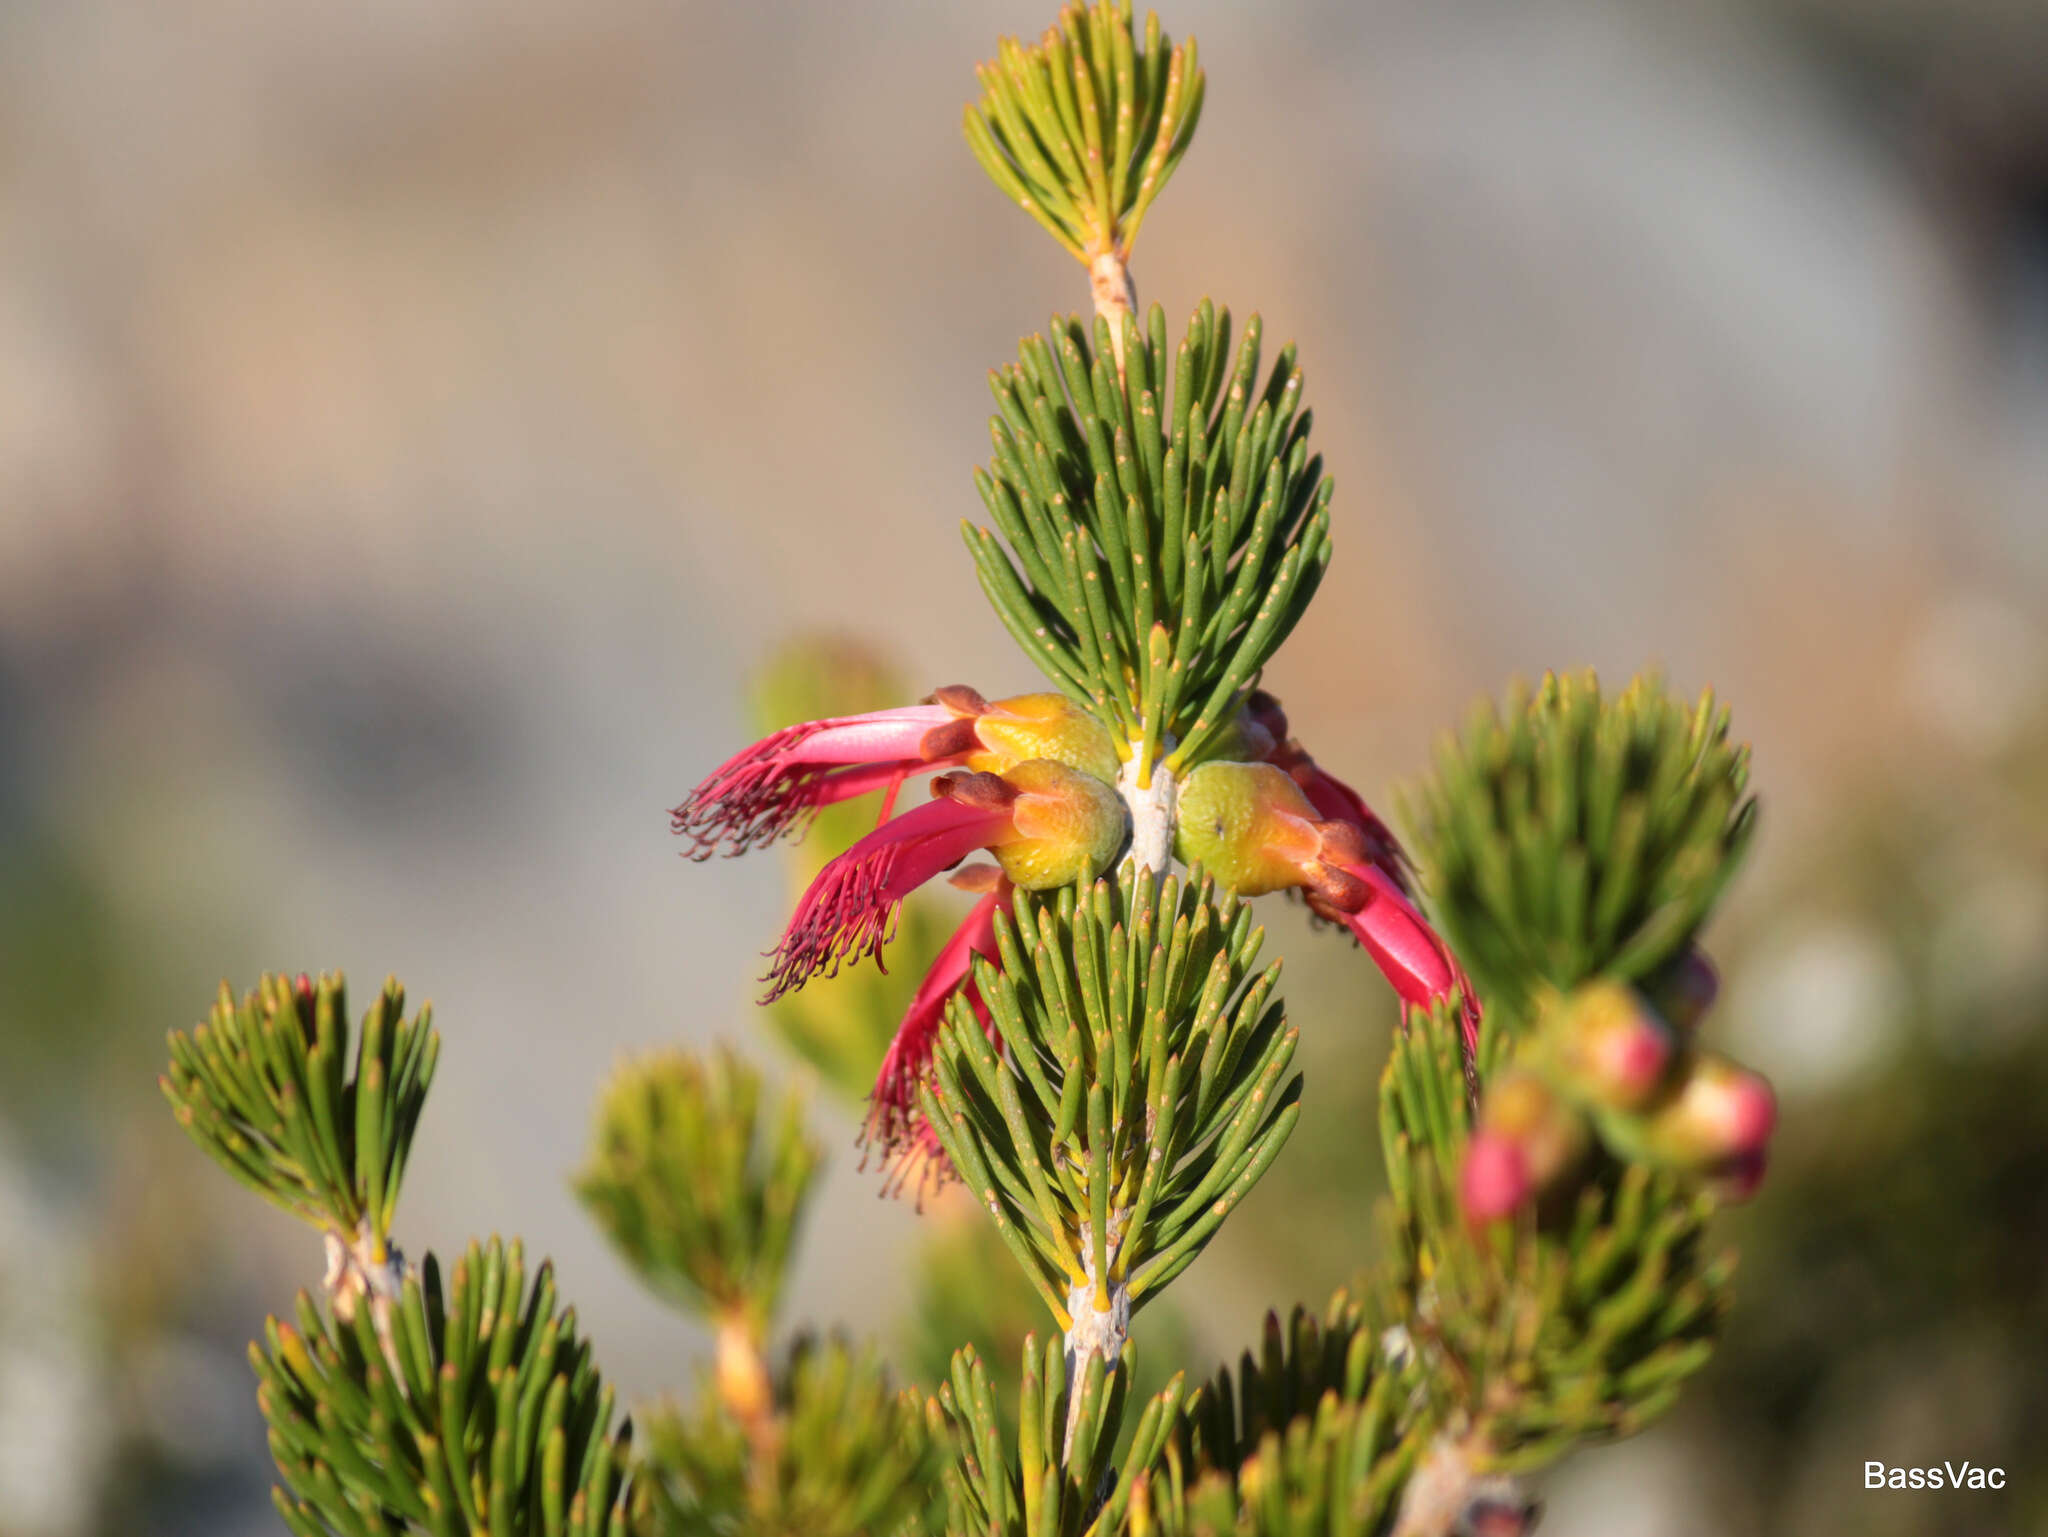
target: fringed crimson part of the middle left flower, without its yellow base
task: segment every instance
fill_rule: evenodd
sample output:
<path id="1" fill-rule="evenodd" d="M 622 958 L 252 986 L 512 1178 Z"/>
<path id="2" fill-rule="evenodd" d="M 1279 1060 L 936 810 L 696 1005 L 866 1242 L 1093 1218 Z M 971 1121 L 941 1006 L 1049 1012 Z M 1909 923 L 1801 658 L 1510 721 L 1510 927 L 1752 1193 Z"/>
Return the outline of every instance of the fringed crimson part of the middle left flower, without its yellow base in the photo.
<path id="1" fill-rule="evenodd" d="M 928 801 L 870 832 L 825 865 L 797 902 L 797 916 L 770 953 L 762 1002 L 862 955 L 879 959 L 903 898 L 1012 834 L 1008 805 L 952 799 Z"/>

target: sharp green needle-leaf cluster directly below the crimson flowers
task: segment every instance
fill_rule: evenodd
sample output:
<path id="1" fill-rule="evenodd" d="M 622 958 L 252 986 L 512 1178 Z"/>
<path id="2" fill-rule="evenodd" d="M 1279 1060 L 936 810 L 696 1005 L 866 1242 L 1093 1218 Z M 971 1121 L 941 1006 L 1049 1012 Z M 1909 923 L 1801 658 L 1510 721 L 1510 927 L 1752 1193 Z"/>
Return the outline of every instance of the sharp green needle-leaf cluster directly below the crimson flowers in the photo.
<path id="1" fill-rule="evenodd" d="M 1018 894 L 954 998 L 924 1109 L 1038 1293 L 1143 1305 L 1200 1254 L 1298 1117 L 1264 930 L 1192 871 Z M 1284 1080 L 1284 1082 L 1282 1082 Z"/>

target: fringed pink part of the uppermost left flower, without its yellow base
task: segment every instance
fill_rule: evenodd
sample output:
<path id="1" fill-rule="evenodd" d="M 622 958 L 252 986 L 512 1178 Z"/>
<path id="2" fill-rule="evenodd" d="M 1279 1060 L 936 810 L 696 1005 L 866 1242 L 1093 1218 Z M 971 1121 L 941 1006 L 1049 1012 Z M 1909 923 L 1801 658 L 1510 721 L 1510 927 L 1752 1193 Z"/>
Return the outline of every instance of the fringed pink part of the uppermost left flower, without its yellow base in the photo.
<path id="1" fill-rule="evenodd" d="M 690 840 L 692 859 L 719 846 L 729 855 L 760 848 L 821 805 L 958 762 L 963 754 L 924 756 L 926 734 L 954 719 L 946 705 L 909 705 L 784 725 L 711 771 L 670 814 L 670 830 Z"/>

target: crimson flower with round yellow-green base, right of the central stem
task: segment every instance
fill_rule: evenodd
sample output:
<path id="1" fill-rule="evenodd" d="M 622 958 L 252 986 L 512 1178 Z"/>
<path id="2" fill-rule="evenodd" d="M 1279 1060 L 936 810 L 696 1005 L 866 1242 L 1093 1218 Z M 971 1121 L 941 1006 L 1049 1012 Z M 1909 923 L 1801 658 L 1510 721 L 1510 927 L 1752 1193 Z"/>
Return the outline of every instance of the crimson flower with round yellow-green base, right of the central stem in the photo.
<path id="1" fill-rule="evenodd" d="M 1466 1060 L 1479 1053 L 1479 998 L 1450 947 L 1415 910 L 1350 820 L 1317 816 L 1298 781 L 1272 762 L 1204 762 L 1180 785 L 1180 855 L 1239 896 L 1298 887 L 1341 922 L 1401 1002 L 1427 1008 L 1458 990 Z"/>

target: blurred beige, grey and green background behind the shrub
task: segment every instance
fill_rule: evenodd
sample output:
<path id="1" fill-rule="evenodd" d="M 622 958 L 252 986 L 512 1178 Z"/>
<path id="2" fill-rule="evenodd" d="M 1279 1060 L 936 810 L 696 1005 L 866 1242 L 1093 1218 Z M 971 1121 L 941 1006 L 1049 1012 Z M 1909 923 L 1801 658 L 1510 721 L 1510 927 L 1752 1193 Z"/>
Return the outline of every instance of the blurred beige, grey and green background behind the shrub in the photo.
<path id="1" fill-rule="evenodd" d="M 795 633 L 1036 684 L 956 541 L 985 369 L 1079 268 L 958 139 L 1026 4 L 0 6 L 0 1533 L 276 1531 L 244 1342 L 317 1244 L 182 1141 L 221 978 L 446 1037 L 399 1232 L 518 1232 L 635 1398 L 705 1340 L 567 1189 L 631 1047 L 729 1037 L 774 859 L 666 807 Z M 1786 1109 L 1741 1307 L 1546 1529 L 2048 1533 L 2048 8 L 1176 0 L 1135 273 L 1296 336 L 1337 559 L 1270 674 L 1372 797 L 1511 674 L 1755 744 L 1708 1029 Z M 1391 1006 L 1274 908 L 1303 1131 L 1198 1369 L 1370 1258 Z M 915 1371 L 858 1107 L 791 1314 Z M 1139 1332 L 1141 1348 L 1145 1330 Z M 2001 1463 L 2003 1496 L 1862 1463 Z"/>

